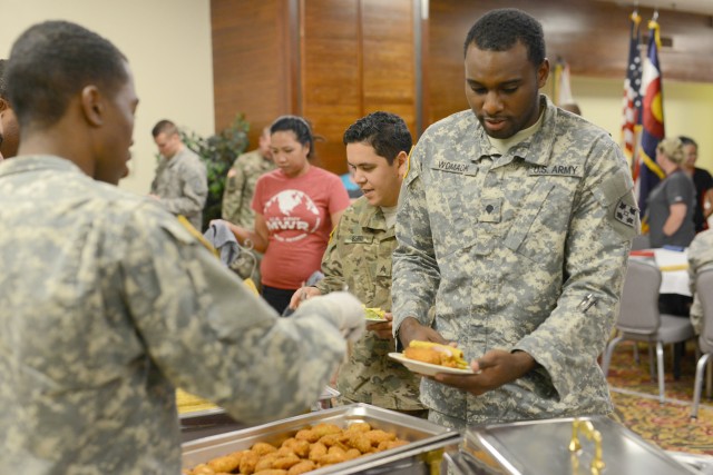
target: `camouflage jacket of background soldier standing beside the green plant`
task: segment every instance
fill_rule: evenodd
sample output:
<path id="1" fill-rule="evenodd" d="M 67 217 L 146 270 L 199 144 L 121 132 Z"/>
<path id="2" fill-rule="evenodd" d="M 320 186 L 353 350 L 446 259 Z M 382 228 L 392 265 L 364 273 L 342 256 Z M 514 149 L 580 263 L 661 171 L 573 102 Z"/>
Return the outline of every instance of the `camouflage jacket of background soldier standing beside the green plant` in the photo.
<path id="1" fill-rule="evenodd" d="M 185 216 L 194 228 L 203 230 L 203 208 L 208 197 L 205 164 L 188 147 L 173 158 L 162 157 L 152 182 L 152 194 L 172 215 Z"/>

